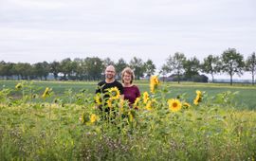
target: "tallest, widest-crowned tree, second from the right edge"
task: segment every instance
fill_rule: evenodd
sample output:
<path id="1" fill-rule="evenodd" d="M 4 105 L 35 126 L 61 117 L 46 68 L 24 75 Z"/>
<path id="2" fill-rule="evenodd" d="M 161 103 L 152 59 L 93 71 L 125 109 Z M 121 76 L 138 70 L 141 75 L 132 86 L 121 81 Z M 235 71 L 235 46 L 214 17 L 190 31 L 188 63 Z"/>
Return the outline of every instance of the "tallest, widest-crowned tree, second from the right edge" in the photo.
<path id="1" fill-rule="evenodd" d="M 234 74 L 241 76 L 245 67 L 244 57 L 236 51 L 235 48 L 229 48 L 224 51 L 222 56 L 222 68 L 224 73 L 228 73 L 230 76 L 230 85 L 232 85 L 232 77 Z"/>

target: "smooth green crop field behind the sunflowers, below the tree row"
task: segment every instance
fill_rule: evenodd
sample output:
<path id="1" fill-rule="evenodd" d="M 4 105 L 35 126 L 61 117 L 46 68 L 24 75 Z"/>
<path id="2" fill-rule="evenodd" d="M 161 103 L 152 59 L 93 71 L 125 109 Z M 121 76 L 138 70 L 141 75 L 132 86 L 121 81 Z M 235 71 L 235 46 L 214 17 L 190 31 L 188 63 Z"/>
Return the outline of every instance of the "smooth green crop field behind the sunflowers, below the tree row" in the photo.
<path id="1" fill-rule="evenodd" d="M 20 81 L 14 80 L 0 80 L 0 87 L 15 89 L 15 85 Z M 141 93 L 144 91 L 149 92 L 149 82 L 146 80 L 140 80 L 136 82 Z M 97 87 L 96 81 L 33 81 L 33 86 L 37 88 L 38 94 L 43 94 L 46 87 L 52 88 L 56 96 L 64 95 L 64 91 L 71 89 L 73 93 L 79 93 L 83 89 L 88 93 L 94 94 Z M 184 95 L 189 102 L 192 103 L 192 99 L 195 95 L 195 90 L 205 91 L 209 97 L 213 97 L 216 94 L 223 92 L 238 92 L 234 98 L 234 103 L 238 104 L 240 109 L 256 109 L 256 86 L 250 84 L 234 84 L 230 86 L 226 83 L 193 83 L 193 82 L 165 82 L 162 83 L 161 88 L 167 88 L 169 93 L 166 94 L 166 98 L 176 98 L 177 96 Z M 12 95 L 21 95 L 21 92 L 12 91 Z"/>

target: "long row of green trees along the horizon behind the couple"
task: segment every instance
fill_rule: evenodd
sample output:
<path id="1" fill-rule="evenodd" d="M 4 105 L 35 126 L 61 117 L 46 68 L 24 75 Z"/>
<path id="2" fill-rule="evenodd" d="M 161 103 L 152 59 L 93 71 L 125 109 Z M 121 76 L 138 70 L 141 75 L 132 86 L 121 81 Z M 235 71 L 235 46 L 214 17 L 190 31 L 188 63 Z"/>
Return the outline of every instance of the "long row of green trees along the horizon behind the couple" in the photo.
<path id="1" fill-rule="evenodd" d="M 101 80 L 104 69 L 112 64 L 116 67 L 117 76 L 120 78 L 122 69 L 130 66 L 136 75 L 136 79 L 150 77 L 155 74 L 155 64 L 152 60 L 143 62 L 140 58 L 134 57 L 129 63 L 122 58 L 117 63 L 110 58 L 101 59 L 98 57 L 87 57 L 85 59 L 76 58 L 73 61 L 66 58 L 61 62 L 52 63 L 5 63 L 0 62 L 0 76 L 3 79 L 11 80 L 46 80 L 49 73 L 53 74 L 55 80 Z M 244 56 L 237 52 L 235 48 L 225 50 L 220 56 L 209 55 L 203 62 L 196 57 L 186 58 L 181 52 L 170 55 L 161 66 L 159 74 L 165 76 L 172 74 L 173 79 L 178 83 L 181 80 L 204 81 L 208 78 L 200 73 L 210 74 L 214 81 L 215 74 L 226 73 L 232 78 L 236 74 L 242 76 L 244 72 L 250 72 L 252 84 L 256 70 L 255 52 L 244 59 Z"/>

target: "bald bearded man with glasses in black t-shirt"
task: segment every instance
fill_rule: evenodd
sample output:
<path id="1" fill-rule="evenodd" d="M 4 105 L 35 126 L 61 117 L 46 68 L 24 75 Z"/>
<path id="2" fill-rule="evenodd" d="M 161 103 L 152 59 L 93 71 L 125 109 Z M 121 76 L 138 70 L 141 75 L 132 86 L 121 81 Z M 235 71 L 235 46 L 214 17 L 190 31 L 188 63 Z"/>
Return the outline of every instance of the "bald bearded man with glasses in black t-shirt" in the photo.
<path id="1" fill-rule="evenodd" d="M 110 96 L 107 95 L 108 90 L 117 87 L 119 89 L 119 95 L 120 98 L 123 98 L 123 87 L 122 84 L 118 81 L 115 80 L 116 76 L 116 69 L 113 65 L 109 65 L 105 69 L 105 80 L 102 80 L 98 83 L 98 88 L 96 89 L 96 94 L 102 93 L 104 94 L 104 99 L 108 99 Z M 101 107 L 100 107 L 101 109 Z"/>

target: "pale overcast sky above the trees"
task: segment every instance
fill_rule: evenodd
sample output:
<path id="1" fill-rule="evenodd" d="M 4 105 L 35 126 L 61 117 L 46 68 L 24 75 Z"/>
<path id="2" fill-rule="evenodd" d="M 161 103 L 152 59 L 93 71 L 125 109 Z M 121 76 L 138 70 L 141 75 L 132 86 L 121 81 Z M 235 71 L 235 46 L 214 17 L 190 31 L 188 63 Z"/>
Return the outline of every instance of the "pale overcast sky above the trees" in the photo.
<path id="1" fill-rule="evenodd" d="M 98 56 L 157 68 L 183 52 L 256 51 L 255 0 L 0 0 L 0 61 Z"/>

